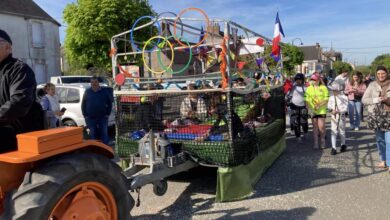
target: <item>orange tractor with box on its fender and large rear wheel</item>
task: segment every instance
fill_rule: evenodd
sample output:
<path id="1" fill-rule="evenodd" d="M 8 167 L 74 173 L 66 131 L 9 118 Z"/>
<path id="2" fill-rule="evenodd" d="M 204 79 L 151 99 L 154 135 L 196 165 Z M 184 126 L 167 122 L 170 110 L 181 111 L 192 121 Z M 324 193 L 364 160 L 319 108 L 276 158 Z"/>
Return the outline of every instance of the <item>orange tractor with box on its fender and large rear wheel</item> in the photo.
<path id="1" fill-rule="evenodd" d="M 129 219 L 131 187 L 111 147 L 83 140 L 82 128 L 17 136 L 0 153 L 0 219 Z"/>

